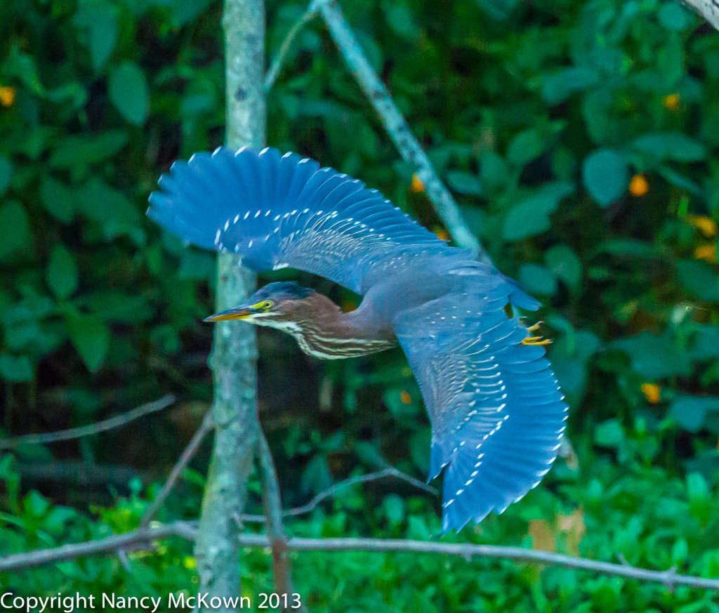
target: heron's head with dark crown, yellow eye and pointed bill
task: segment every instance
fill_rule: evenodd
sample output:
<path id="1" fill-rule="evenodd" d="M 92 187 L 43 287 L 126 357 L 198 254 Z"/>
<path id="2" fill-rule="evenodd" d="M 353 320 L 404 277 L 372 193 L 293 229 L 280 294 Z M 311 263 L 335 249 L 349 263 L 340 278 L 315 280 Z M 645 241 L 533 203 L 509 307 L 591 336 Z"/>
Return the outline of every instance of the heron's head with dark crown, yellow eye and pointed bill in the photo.
<path id="1" fill-rule="evenodd" d="M 278 322 L 297 321 L 298 310 L 302 310 L 314 290 L 294 282 L 268 283 L 257 290 L 238 307 L 210 315 L 205 321 L 229 321 L 240 319 L 257 326 L 275 326 Z"/>

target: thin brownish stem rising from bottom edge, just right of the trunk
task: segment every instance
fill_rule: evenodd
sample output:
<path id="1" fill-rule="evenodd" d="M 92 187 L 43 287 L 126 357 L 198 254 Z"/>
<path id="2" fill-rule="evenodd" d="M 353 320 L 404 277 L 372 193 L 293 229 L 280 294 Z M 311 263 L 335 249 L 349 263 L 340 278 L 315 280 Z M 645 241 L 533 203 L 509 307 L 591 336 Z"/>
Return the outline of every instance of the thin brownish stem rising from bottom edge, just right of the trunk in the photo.
<path id="1" fill-rule="evenodd" d="M 282 525 L 282 498 L 280 483 L 275 469 L 272 450 L 267 443 L 265 433 L 260 428 L 258 456 L 262 469 L 262 504 L 265 506 L 265 533 L 272 545 L 273 578 L 275 591 L 280 594 L 293 594 L 295 588 L 290 573 L 290 560 L 287 555 L 287 535 Z M 282 602 L 283 599 L 280 599 Z"/>

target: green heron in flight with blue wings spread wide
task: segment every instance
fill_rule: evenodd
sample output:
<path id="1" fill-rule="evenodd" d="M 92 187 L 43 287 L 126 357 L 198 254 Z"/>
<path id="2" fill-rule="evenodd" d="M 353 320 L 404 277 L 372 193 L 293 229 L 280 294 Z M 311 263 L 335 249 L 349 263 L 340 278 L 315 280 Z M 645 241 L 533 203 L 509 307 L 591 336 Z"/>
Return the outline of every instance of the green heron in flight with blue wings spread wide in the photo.
<path id="1" fill-rule="evenodd" d="M 278 328 L 322 359 L 399 344 L 431 420 L 430 479 L 444 469 L 445 531 L 503 512 L 549 471 L 568 407 L 546 341 L 507 314 L 539 308 L 515 281 L 377 190 L 293 153 L 220 147 L 175 162 L 159 185 L 147 214 L 188 243 L 363 296 L 343 313 L 314 290 L 275 282 L 207 321 Z"/>

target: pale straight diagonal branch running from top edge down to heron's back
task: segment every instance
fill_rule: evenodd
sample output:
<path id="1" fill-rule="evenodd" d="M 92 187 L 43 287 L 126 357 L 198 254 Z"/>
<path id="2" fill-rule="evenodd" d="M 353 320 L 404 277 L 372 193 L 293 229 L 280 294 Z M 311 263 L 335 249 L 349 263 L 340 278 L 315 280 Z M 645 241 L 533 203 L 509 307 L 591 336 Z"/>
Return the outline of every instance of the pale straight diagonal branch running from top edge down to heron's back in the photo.
<path id="1" fill-rule="evenodd" d="M 329 33 L 349 69 L 352 70 L 359 87 L 375 107 L 375 111 L 380 116 L 400 155 L 416 168 L 417 176 L 424 185 L 427 197 L 434 205 L 449 234 L 454 236 L 459 246 L 470 249 L 472 254 L 488 262 L 489 259 L 482 251 L 477 237 L 464 223 L 462 213 L 459 212 L 459 207 L 452 198 L 452 194 L 437 176 L 434 166 L 409 129 L 407 121 L 392 100 L 388 89 L 367 61 L 352 29 L 342 15 L 339 4 L 336 0 L 314 0 L 312 4 L 319 5 L 319 11 L 327 24 Z"/>

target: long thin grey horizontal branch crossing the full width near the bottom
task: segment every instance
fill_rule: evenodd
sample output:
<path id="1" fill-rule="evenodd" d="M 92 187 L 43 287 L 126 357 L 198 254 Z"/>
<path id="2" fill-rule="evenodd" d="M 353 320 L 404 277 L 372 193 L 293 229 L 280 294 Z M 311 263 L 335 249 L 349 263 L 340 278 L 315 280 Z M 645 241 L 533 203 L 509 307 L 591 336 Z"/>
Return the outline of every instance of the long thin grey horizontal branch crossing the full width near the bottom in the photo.
<path id="1" fill-rule="evenodd" d="M 0 572 L 19 571 L 54 562 L 61 562 L 97 553 L 115 553 L 118 550 L 152 550 L 153 540 L 180 537 L 192 540 L 196 533 L 197 522 L 173 522 L 140 528 L 129 533 L 112 535 L 88 543 L 74 543 L 53 549 L 16 553 L 0 558 Z M 270 540 L 265 535 L 241 534 L 237 538 L 243 547 L 270 548 Z M 638 581 L 656 581 L 668 587 L 690 586 L 719 591 L 719 579 L 679 575 L 673 568 L 667 571 L 649 571 L 623 564 L 587 560 L 564 556 L 562 553 L 504 547 L 502 545 L 472 545 L 470 543 L 435 543 L 422 540 L 395 540 L 378 538 L 290 538 L 287 542 L 290 551 L 375 551 L 396 553 L 439 553 L 444 556 L 472 558 L 500 558 L 526 563 L 538 563 L 547 566 L 561 566 L 578 570 L 593 571 L 604 575 L 637 579 Z"/>

